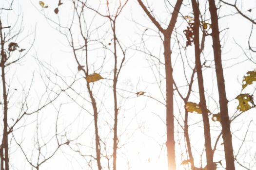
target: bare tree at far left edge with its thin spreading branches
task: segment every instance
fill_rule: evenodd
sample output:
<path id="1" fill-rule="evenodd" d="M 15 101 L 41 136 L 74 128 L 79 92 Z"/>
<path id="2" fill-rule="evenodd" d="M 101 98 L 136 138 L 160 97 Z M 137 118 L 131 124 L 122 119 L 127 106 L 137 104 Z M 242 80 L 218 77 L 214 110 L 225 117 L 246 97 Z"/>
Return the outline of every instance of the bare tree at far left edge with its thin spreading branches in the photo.
<path id="1" fill-rule="evenodd" d="M 16 140 L 20 138 L 20 136 L 22 136 L 17 131 L 20 131 L 20 129 L 25 129 L 27 126 L 30 125 L 29 123 L 27 124 L 25 122 L 25 119 L 27 119 L 27 117 L 39 114 L 39 112 L 42 111 L 43 108 L 47 107 L 48 105 L 56 101 L 59 95 L 65 91 L 65 90 L 59 90 L 58 92 L 55 93 L 51 90 L 50 90 L 51 92 L 48 92 L 46 90 L 46 92 L 40 97 L 39 105 L 35 109 L 35 107 L 33 105 L 30 105 L 29 103 L 29 97 L 31 96 L 31 88 L 33 86 L 33 83 L 35 83 L 34 82 L 35 73 L 33 73 L 32 80 L 29 87 L 24 87 L 23 85 L 21 85 L 23 88 L 22 90 L 20 89 L 18 90 L 16 87 L 15 88 L 13 87 L 13 86 L 16 86 L 14 85 L 14 83 L 12 83 L 12 79 L 13 77 L 15 77 L 15 75 L 9 76 L 7 73 L 9 73 L 11 68 L 15 68 L 14 65 L 18 65 L 18 66 L 20 65 L 20 63 L 22 62 L 22 59 L 28 54 L 28 51 L 31 50 L 35 41 L 35 37 L 34 37 L 32 39 L 31 44 L 29 46 L 26 46 L 27 47 L 26 49 L 23 49 L 23 45 L 22 45 L 23 39 L 20 38 L 20 36 L 22 35 L 21 33 L 23 31 L 23 27 L 22 27 L 23 23 L 22 23 L 22 19 L 20 19 L 22 17 L 20 13 L 18 13 L 17 20 L 14 19 L 13 22 L 9 23 L 10 25 L 4 26 L 4 24 L 8 23 L 6 22 L 6 20 L 8 20 L 7 18 L 8 15 L 6 15 L 6 13 L 13 12 L 12 11 L 13 2 L 14 0 L 10 2 L 8 8 L 0 9 L 1 15 L 6 17 L 4 18 L 4 22 L 2 22 L 2 17 L 0 18 L 0 40 L 1 40 L 0 67 L 1 67 L 1 81 L 2 81 L 1 92 L 2 92 L 2 100 L 3 100 L 3 103 L 0 102 L 1 105 L 3 105 L 3 132 L 2 132 L 2 142 L 0 145 L 0 170 L 10 170 L 13 168 L 12 167 L 13 163 L 10 163 L 10 157 L 11 157 L 10 153 L 12 153 L 10 151 L 17 145 L 20 147 L 22 153 L 24 153 L 25 158 L 28 160 L 28 155 L 25 154 L 25 151 L 22 149 L 21 144 Z M 48 83 L 47 85 L 49 84 L 50 83 Z M 45 85 L 46 89 L 47 89 L 47 85 Z M 14 94 L 19 91 L 20 91 L 21 97 Z M 54 97 L 52 97 L 53 94 L 55 94 Z M 18 106 L 18 109 L 15 109 L 14 106 Z M 39 121 L 39 120 L 36 120 L 36 121 Z M 39 127 L 37 126 L 37 128 Z M 15 141 L 14 143 L 16 143 L 16 145 L 12 144 L 13 140 Z M 12 153 L 12 154 L 15 155 L 16 153 Z M 39 152 L 39 155 L 40 155 L 40 152 Z M 46 160 L 48 160 L 52 156 L 48 157 Z M 37 166 L 33 165 L 33 167 L 39 169 L 39 165 L 40 164 L 38 164 Z"/>

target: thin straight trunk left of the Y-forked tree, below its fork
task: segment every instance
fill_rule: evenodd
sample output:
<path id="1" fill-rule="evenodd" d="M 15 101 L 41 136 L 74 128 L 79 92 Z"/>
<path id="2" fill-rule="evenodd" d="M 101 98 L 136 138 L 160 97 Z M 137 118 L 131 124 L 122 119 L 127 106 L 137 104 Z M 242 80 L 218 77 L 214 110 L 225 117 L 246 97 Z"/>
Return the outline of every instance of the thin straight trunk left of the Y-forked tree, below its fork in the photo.
<path id="1" fill-rule="evenodd" d="M 114 58 L 115 58 L 115 66 L 114 66 L 114 80 L 113 80 L 113 94 L 114 94 L 114 140 L 113 140 L 113 170 L 117 170 L 117 149 L 118 149 L 118 102 L 117 102 L 117 64 L 118 64 L 118 56 L 117 56 L 117 37 L 116 37 L 116 21 L 113 21 L 113 34 L 114 34 Z"/>

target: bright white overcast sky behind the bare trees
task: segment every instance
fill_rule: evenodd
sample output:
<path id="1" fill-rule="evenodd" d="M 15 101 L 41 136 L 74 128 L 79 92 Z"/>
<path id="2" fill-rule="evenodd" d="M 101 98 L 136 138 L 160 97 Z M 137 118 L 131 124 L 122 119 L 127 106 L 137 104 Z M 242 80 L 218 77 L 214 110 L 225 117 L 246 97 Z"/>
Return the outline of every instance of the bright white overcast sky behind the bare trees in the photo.
<path id="1" fill-rule="evenodd" d="M 0 2 L 1 6 L 8 5 L 10 0 L 3 0 Z M 111 9 L 115 7 L 115 3 L 118 0 L 109 0 Z M 123 1 L 123 0 L 122 0 Z M 144 0 L 145 1 L 145 0 Z M 229 0 L 232 3 L 234 0 Z M 22 28 L 22 33 L 17 39 L 20 47 L 28 49 L 30 44 L 33 42 L 35 37 L 35 42 L 32 46 L 32 49 L 28 52 L 25 58 L 22 59 L 19 65 L 12 65 L 8 68 L 7 80 L 10 83 L 10 91 L 12 100 L 10 100 L 10 111 L 9 119 L 17 118 L 17 111 L 20 110 L 20 102 L 22 100 L 22 88 L 27 92 L 29 85 L 32 81 L 33 74 L 34 82 L 32 84 L 30 96 L 28 98 L 29 110 L 32 111 L 38 107 L 39 99 L 42 95 L 43 100 L 47 100 L 48 97 L 53 98 L 54 94 L 51 93 L 50 96 L 47 96 L 45 88 L 54 89 L 55 91 L 59 90 L 59 86 L 62 88 L 67 87 L 62 80 L 65 80 L 67 84 L 72 82 L 76 77 L 81 78 L 83 75 L 77 70 L 77 63 L 74 59 L 72 49 L 69 47 L 66 37 L 63 34 L 60 34 L 58 31 L 58 26 L 54 24 L 49 19 L 60 22 L 62 26 L 67 26 L 71 23 L 73 16 L 73 6 L 70 0 L 62 0 L 63 5 L 59 7 L 59 14 L 54 13 L 54 9 L 58 4 L 58 0 L 44 0 L 45 5 L 48 5 L 49 8 L 42 9 L 39 5 L 39 0 L 15 0 L 13 4 L 12 11 L 6 11 L 1 13 L 0 17 L 4 24 L 14 26 L 16 20 L 18 20 L 16 25 L 17 30 Z M 172 5 L 175 2 L 171 1 Z M 89 3 L 97 8 L 99 3 L 102 3 L 100 7 L 100 12 L 105 13 L 105 1 L 104 0 L 89 0 Z M 204 10 L 206 1 L 200 1 L 201 10 Z M 189 5 L 189 0 L 184 0 L 183 6 L 181 8 L 181 14 L 183 16 L 193 16 L 192 8 Z M 148 0 L 148 5 L 154 9 L 154 15 L 157 17 L 158 21 L 163 27 L 166 27 L 169 19 L 170 13 L 168 9 L 165 8 L 164 0 Z M 168 6 L 172 11 L 173 8 Z M 245 12 L 246 15 L 256 18 L 256 1 L 255 0 L 239 0 L 239 8 Z M 252 9 L 251 12 L 247 11 Z M 248 37 L 250 34 L 251 23 L 248 22 L 243 17 L 234 14 L 235 9 L 224 6 L 221 7 L 219 12 L 220 16 L 226 16 L 219 20 L 219 28 L 223 30 L 221 32 L 221 44 L 222 44 L 222 59 L 224 76 L 225 76 L 225 85 L 227 90 L 227 97 L 229 102 L 230 117 L 236 112 L 237 101 L 234 100 L 238 94 L 241 92 L 241 82 L 243 76 L 247 71 L 254 70 L 256 68 L 255 63 L 248 60 L 244 55 L 244 51 L 248 55 L 252 55 L 254 61 L 256 61 L 256 54 L 249 53 L 248 51 Z M 46 19 L 47 16 L 49 19 Z M 88 19 L 88 22 L 92 20 L 94 13 L 88 11 L 85 15 L 85 19 Z M 19 17 L 18 17 L 19 16 Z M 209 21 L 209 12 L 207 12 L 206 17 L 207 22 Z M 96 16 L 95 20 L 92 22 L 92 28 L 103 24 L 106 19 Z M 75 19 L 74 22 L 74 39 L 75 42 L 79 44 L 81 42 L 81 37 L 79 37 L 79 30 L 76 25 L 78 24 Z M 179 16 L 177 21 L 177 37 L 173 36 L 173 63 L 174 63 L 174 79 L 178 86 L 180 86 L 180 91 L 183 95 L 186 95 L 186 85 L 183 66 L 181 62 L 180 52 L 177 46 L 177 39 L 185 46 L 185 35 L 183 30 L 186 29 L 186 22 L 184 19 Z M 141 43 L 142 33 L 148 28 L 148 31 L 143 36 L 146 47 Z M 104 33 L 110 30 L 110 23 L 106 22 L 102 27 L 98 29 L 92 37 L 101 38 Z M 117 35 L 121 41 L 123 47 L 130 47 L 127 50 L 125 66 L 121 70 L 120 78 L 118 80 L 118 102 L 120 105 L 119 110 L 119 126 L 118 126 L 118 135 L 120 137 L 118 150 L 118 170 L 128 170 L 128 162 L 130 170 L 167 170 L 167 160 L 166 160 L 166 150 L 165 150 L 165 140 L 166 140 L 166 130 L 165 130 L 165 107 L 160 102 L 165 102 L 165 84 L 164 84 L 164 67 L 158 63 L 158 60 L 145 55 L 140 51 L 149 51 L 163 62 L 163 47 L 162 42 L 159 38 L 159 34 L 156 30 L 156 27 L 150 22 L 148 17 L 146 17 L 138 5 L 136 0 L 129 0 L 127 5 L 124 7 L 121 15 L 117 20 Z M 255 42 L 255 35 L 253 34 L 251 42 Z M 108 34 L 102 43 L 106 45 L 111 42 L 111 34 Z M 242 49 L 238 46 L 240 45 Z M 109 86 L 112 85 L 113 77 L 113 58 L 112 54 L 108 51 L 104 53 L 99 43 L 95 43 L 89 48 L 90 56 L 90 73 L 94 71 L 100 71 L 100 74 L 105 79 L 100 80 L 94 84 L 94 95 L 96 96 L 99 108 L 99 126 L 100 126 L 100 135 L 102 140 L 106 142 L 108 153 L 111 153 L 112 138 L 113 135 L 110 133 L 111 127 L 113 125 L 113 94 Z M 113 47 L 110 45 L 110 49 Z M 190 79 L 191 68 L 194 67 L 194 52 L 193 46 L 187 48 L 186 55 L 188 57 L 188 63 L 185 62 L 185 71 L 186 76 Z M 136 50 L 137 49 L 137 50 Z M 139 51 L 140 50 L 140 51 Z M 183 59 L 185 59 L 185 51 L 182 49 L 181 54 Z M 79 61 L 85 63 L 84 53 L 79 53 Z M 120 53 L 119 53 L 120 55 Z M 103 58 L 106 57 L 104 61 Z M 45 63 L 45 66 L 50 65 L 52 72 L 46 70 L 43 72 L 43 67 L 39 66 L 39 61 Z M 213 113 L 218 113 L 218 95 L 217 95 L 217 84 L 215 70 L 213 69 L 213 51 L 212 51 L 212 42 L 210 36 L 206 38 L 205 49 L 203 52 L 202 60 L 207 60 L 206 65 L 211 66 L 211 68 L 205 68 L 204 74 L 204 84 L 206 89 L 206 98 L 208 108 Z M 101 64 L 104 62 L 104 67 L 101 68 Z M 47 64 L 46 64 L 47 63 Z M 188 66 L 189 65 L 189 66 Z M 49 68 L 49 66 L 47 66 Z M 111 72 L 112 71 L 112 72 Z M 59 77 L 56 78 L 54 75 L 55 72 L 58 73 L 63 79 Z M 42 74 L 41 76 L 39 74 Z M 51 78 L 52 82 L 44 85 L 43 80 L 47 82 L 47 76 Z M 159 75 L 160 74 L 160 75 Z M 195 79 L 196 80 L 196 79 Z M 58 85 L 55 85 L 58 84 Z M 246 89 L 246 93 L 253 93 L 254 87 Z M 18 91 L 15 91 L 14 88 L 17 88 Z M 48 89 L 48 90 L 49 90 Z M 22 147 L 26 152 L 28 159 L 36 161 L 37 155 L 36 148 L 37 144 L 35 143 L 35 138 L 37 133 L 39 134 L 39 141 L 42 144 L 47 140 L 50 142 L 42 150 L 42 153 L 49 155 L 56 149 L 56 140 L 52 137 L 55 134 L 55 124 L 58 116 L 58 132 L 60 134 L 59 139 L 64 142 L 66 140 L 65 136 L 68 136 L 69 139 L 77 137 L 79 134 L 82 134 L 78 140 L 72 141 L 69 145 L 73 150 L 80 150 L 83 154 L 95 155 L 95 151 L 90 147 L 93 145 L 94 137 L 94 125 L 93 117 L 86 111 L 88 110 L 92 113 L 91 105 L 86 100 L 89 100 L 89 96 L 86 90 L 84 79 L 79 80 L 75 85 L 74 89 L 68 90 L 67 94 L 61 95 L 57 101 L 54 102 L 54 105 L 49 105 L 45 109 L 39 112 L 39 114 L 34 114 L 33 116 L 26 117 L 22 119 L 22 122 L 19 124 L 20 129 L 15 133 L 17 140 L 22 143 Z M 193 85 L 194 93 L 191 95 L 189 101 L 199 102 L 198 99 L 198 90 L 197 90 L 197 80 Z M 136 92 L 145 91 L 146 95 L 152 96 L 157 99 L 153 100 L 145 96 L 136 96 Z M 49 91 L 48 91 L 49 92 Z M 50 93 L 50 92 L 49 92 Z M 79 96 L 80 95 L 80 96 Z M 178 94 L 175 94 L 175 116 L 178 119 L 178 122 L 183 125 L 184 119 L 184 103 L 178 97 Z M 73 99 L 74 101 L 72 101 Z M 82 105 L 85 109 L 81 109 L 79 105 Z M 59 111 L 59 115 L 58 115 Z M 235 120 L 231 124 L 234 140 L 234 152 L 237 153 L 241 144 L 241 140 L 245 135 L 245 131 L 250 124 L 250 132 L 246 138 L 246 141 L 241 147 L 240 154 L 237 156 L 237 159 L 240 161 L 251 161 L 254 159 L 254 154 L 256 153 L 256 148 L 253 148 L 253 145 L 256 142 L 256 117 L 255 109 L 251 109 L 244 113 L 243 116 Z M 38 119 L 39 123 L 39 132 L 36 131 Z M 195 156 L 195 165 L 200 167 L 200 154 L 203 151 L 203 125 L 200 121 L 201 115 L 190 113 L 189 115 L 189 132 L 191 135 L 191 143 L 193 146 L 193 153 Z M 211 121 L 211 116 L 210 116 Z M 11 120 L 9 122 L 11 124 Z M 220 132 L 220 123 L 211 121 L 212 127 L 212 140 L 214 146 L 216 137 Z M 22 125 L 28 124 L 26 127 Z M 18 127 L 18 126 L 17 126 Z M 183 131 L 180 128 L 180 125 L 175 124 L 176 139 L 177 139 L 177 169 L 184 170 L 184 167 L 180 166 L 182 160 L 186 160 L 186 153 L 184 148 L 184 137 Z M 62 136 L 61 136 L 62 135 Z M 20 151 L 20 148 L 17 146 L 14 140 L 11 141 L 11 165 L 13 170 L 25 170 L 31 169 L 30 165 L 27 163 L 24 154 Z M 221 145 L 222 139 L 217 144 L 217 151 L 215 153 L 214 161 L 223 160 L 223 146 Z M 41 166 L 41 170 L 90 170 L 88 167 L 87 161 L 90 161 L 90 157 L 83 158 L 78 153 L 71 150 L 68 146 L 61 147 L 57 153 L 48 161 L 46 161 Z M 103 147 L 102 147 L 103 148 Z M 246 153 L 246 154 L 245 154 Z M 41 158 L 40 158 L 41 159 Z M 205 157 L 202 157 L 202 166 L 205 166 Z M 107 165 L 106 159 L 102 159 L 104 166 Z M 96 170 L 94 161 L 93 170 Z M 112 164 L 112 163 L 111 163 Z M 251 167 L 252 164 L 248 165 L 244 163 L 246 167 Z M 240 170 L 241 167 L 237 165 L 237 170 Z M 252 170 L 256 170 L 256 165 Z M 222 170 L 219 168 L 219 170 Z"/>

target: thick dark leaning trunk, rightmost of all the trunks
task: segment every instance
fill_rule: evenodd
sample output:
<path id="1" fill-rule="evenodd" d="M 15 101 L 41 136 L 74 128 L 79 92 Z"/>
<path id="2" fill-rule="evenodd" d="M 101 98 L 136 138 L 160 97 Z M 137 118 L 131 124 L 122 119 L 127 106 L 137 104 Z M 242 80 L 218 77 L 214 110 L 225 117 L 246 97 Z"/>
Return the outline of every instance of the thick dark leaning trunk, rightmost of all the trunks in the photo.
<path id="1" fill-rule="evenodd" d="M 230 132 L 230 120 L 228 116 L 228 100 L 226 97 L 225 80 L 221 62 L 221 46 L 219 40 L 218 16 L 215 0 L 209 0 L 209 9 L 212 20 L 212 38 L 215 69 L 217 75 L 217 86 L 219 94 L 220 119 L 222 126 L 222 137 L 224 141 L 224 152 L 226 159 L 226 170 L 235 170 L 232 136 Z"/>

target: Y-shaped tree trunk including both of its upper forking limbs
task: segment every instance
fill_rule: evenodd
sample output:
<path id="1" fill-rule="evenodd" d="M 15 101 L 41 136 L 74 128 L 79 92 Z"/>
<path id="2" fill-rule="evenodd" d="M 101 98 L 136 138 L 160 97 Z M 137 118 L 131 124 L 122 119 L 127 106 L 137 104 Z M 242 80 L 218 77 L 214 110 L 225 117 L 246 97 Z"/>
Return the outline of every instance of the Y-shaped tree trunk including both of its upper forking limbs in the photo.
<path id="1" fill-rule="evenodd" d="M 168 159 L 168 170 L 176 170 L 175 161 L 175 138 L 174 138 L 174 110 L 173 110 L 173 68 L 171 62 L 171 35 L 175 27 L 177 16 L 182 5 L 183 0 L 177 0 L 171 20 L 168 24 L 167 29 L 163 29 L 158 23 L 155 17 L 153 17 L 148 11 L 147 7 L 141 0 L 138 0 L 139 5 L 144 10 L 146 15 L 150 18 L 152 23 L 158 28 L 164 36 L 164 62 L 165 62 L 165 77 L 166 77 L 166 148 L 167 148 L 167 159 Z"/>

